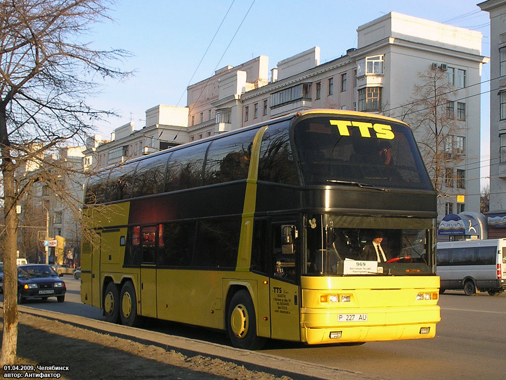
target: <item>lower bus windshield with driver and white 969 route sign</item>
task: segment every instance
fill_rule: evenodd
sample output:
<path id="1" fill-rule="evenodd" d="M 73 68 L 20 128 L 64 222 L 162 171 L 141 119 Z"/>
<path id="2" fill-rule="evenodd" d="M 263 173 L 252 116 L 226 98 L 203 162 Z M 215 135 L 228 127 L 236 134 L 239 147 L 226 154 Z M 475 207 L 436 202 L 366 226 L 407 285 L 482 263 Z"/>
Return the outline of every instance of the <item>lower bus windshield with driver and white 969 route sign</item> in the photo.
<path id="1" fill-rule="evenodd" d="M 306 275 L 432 274 L 431 229 L 353 224 L 344 226 L 342 217 L 312 215 L 306 226 Z"/>

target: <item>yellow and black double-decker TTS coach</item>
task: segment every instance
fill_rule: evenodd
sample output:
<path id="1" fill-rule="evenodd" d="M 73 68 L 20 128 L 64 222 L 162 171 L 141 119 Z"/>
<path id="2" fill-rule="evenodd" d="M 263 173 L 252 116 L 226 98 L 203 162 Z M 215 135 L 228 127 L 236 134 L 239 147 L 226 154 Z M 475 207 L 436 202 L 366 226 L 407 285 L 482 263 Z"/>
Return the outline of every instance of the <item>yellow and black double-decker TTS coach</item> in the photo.
<path id="1" fill-rule="evenodd" d="M 81 299 L 110 322 L 244 349 L 435 336 L 436 193 L 395 119 L 298 112 L 104 170 L 85 202 Z"/>

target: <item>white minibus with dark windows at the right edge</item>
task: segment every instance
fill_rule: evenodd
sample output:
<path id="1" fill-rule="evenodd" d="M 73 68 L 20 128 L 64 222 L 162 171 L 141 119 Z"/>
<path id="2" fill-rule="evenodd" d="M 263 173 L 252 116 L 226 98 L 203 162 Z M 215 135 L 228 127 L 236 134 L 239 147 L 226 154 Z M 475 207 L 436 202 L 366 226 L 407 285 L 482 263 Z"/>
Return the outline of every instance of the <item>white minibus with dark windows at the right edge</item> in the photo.
<path id="1" fill-rule="evenodd" d="M 506 239 L 461 240 L 437 244 L 440 293 L 463 289 L 466 295 L 506 289 Z"/>

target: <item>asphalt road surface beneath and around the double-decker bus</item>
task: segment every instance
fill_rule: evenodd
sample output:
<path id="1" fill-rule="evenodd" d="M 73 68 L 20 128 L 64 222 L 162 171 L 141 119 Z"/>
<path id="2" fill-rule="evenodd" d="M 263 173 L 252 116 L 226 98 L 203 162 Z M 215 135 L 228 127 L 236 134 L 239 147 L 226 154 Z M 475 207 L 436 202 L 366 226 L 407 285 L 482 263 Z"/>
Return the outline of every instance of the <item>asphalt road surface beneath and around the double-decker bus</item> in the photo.
<path id="1" fill-rule="evenodd" d="M 102 312 L 80 303 L 79 281 L 64 276 L 65 302 L 29 299 L 25 306 L 104 320 Z M 506 378 L 506 294 L 475 297 L 442 294 L 442 321 L 434 339 L 372 342 L 362 346 L 307 346 L 269 341 L 263 352 L 395 380 L 494 380 Z M 178 323 L 148 320 L 146 328 L 167 334 L 229 344 L 226 335 Z"/>

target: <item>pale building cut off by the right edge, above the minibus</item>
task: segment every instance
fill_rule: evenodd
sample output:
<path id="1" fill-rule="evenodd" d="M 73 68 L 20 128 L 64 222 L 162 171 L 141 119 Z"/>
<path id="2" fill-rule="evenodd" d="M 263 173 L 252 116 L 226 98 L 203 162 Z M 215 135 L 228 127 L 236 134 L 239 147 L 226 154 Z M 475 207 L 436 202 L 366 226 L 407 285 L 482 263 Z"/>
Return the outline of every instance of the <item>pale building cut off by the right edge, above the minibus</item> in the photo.
<path id="1" fill-rule="evenodd" d="M 506 237 L 506 1 L 478 4 L 490 15 L 489 238 Z"/>

